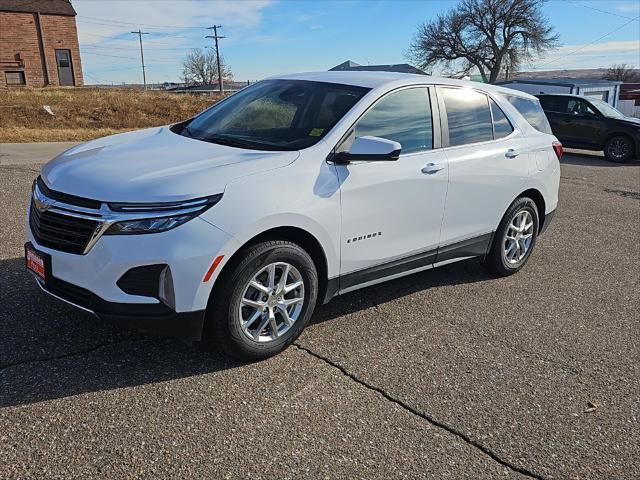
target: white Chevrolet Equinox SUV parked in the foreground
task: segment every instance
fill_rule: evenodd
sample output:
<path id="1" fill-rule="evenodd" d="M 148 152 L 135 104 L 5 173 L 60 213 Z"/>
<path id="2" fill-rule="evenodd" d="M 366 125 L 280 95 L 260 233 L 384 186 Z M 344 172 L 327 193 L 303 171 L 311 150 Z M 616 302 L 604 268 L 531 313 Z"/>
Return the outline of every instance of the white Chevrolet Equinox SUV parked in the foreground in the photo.
<path id="1" fill-rule="evenodd" d="M 264 358 L 335 295 L 470 257 L 522 268 L 558 202 L 550 132 L 535 97 L 489 85 L 267 79 L 45 165 L 27 267 L 98 317 Z"/>

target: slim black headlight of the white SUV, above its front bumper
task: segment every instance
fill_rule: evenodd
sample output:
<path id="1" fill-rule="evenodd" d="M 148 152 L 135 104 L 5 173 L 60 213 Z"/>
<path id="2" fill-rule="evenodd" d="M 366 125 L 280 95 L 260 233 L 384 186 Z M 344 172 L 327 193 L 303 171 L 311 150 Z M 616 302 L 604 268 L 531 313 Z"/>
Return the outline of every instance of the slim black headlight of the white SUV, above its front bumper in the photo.
<path id="1" fill-rule="evenodd" d="M 211 197 L 159 204 L 111 203 L 117 219 L 104 235 L 140 235 L 160 233 L 176 228 L 202 214 L 220 201 L 222 194 Z M 129 217 L 124 219 L 125 217 Z"/>

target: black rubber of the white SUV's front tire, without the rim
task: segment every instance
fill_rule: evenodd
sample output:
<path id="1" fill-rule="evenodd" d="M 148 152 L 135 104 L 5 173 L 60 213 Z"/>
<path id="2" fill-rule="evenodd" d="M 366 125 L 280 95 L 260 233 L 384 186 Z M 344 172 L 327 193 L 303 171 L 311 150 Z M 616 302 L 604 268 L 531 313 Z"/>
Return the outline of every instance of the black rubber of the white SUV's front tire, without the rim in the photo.
<path id="1" fill-rule="evenodd" d="M 299 245 L 272 240 L 258 243 L 238 254 L 241 260 L 230 265 L 213 287 L 204 340 L 211 347 L 220 347 L 227 355 L 242 361 L 262 360 L 286 349 L 302 333 L 309 323 L 318 297 L 318 274 L 315 264 Z M 294 266 L 304 282 L 304 303 L 293 325 L 277 339 L 257 342 L 242 330 L 238 318 L 244 289 L 256 272 L 274 263 L 286 262 Z"/>

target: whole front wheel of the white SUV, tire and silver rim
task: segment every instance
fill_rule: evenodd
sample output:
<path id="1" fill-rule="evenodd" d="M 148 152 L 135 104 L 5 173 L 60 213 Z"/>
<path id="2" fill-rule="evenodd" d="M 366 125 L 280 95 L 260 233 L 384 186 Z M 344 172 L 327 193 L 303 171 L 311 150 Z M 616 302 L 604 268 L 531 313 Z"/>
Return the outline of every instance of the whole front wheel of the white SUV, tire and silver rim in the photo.
<path id="1" fill-rule="evenodd" d="M 286 349 L 309 323 L 318 297 L 318 274 L 309 254 L 284 240 L 252 245 L 238 258 L 241 260 L 230 265 L 231 270 L 214 286 L 203 336 L 210 346 L 219 346 L 235 359 L 262 360 Z M 285 272 L 287 279 L 282 284 Z M 270 289 L 271 275 L 274 285 Z M 252 280 L 260 289 L 250 285 Z M 286 292 L 300 282 L 301 287 Z M 291 305 L 286 306 L 287 302 Z M 246 328 L 243 320 L 248 321 Z"/>

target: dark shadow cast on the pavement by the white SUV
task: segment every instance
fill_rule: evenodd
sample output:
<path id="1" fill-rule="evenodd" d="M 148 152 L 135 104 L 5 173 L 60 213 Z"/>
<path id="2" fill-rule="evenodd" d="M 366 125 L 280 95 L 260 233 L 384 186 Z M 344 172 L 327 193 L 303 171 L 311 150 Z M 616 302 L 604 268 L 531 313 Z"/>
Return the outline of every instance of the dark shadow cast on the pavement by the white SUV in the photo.
<path id="1" fill-rule="evenodd" d="M 312 322 L 336 320 L 420 290 L 488 278 L 475 261 L 452 264 L 340 296 L 319 306 Z M 41 292 L 22 258 L 0 260 L 0 286 L 0 407 L 242 366 L 199 345 L 125 331 L 79 312 Z"/>

